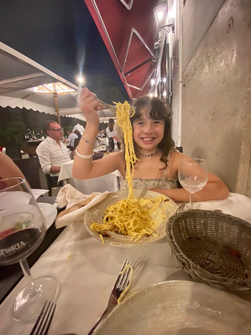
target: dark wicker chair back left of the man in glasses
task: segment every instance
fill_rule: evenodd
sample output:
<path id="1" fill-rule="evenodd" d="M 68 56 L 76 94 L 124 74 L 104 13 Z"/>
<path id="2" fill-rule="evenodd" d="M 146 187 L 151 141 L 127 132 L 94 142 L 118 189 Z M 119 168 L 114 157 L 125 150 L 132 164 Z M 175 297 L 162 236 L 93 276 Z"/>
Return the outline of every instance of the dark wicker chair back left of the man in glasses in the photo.
<path id="1" fill-rule="evenodd" d="M 38 157 L 13 159 L 32 189 L 41 189 Z"/>

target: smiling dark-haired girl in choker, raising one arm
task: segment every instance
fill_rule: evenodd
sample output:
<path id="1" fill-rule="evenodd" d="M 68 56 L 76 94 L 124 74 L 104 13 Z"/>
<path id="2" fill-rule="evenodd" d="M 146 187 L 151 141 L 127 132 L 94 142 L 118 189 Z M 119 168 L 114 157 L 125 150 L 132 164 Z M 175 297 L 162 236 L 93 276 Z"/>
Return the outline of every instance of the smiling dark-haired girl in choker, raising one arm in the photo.
<path id="1" fill-rule="evenodd" d="M 99 126 L 98 109 L 103 106 L 96 95 L 87 88 L 81 90 L 79 107 L 86 117 L 86 128 L 76 150 L 72 176 L 78 179 L 99 177 L 118 170 L 121 189 L 127 187 L 124 180 L 126 161 L 124 151 L 114 152 L 99 160 L 92 160 L 93 146 Z M 139 158 L 134 164 L 134 188 L 147 188 L 161 193 L 176 202 L 189 201 L 189 192 L 177 189 L 179 163 L 188 156 L 174 150 L 170 134 L 170 113 L 159 98 L 144 96 L 135 104 L 136 113 L 131 118 L 135 153 Z M 193 201 L 225 199 L 227 186 L 215 175 L 208 173 L 207 184 L 193 194 Z"/>

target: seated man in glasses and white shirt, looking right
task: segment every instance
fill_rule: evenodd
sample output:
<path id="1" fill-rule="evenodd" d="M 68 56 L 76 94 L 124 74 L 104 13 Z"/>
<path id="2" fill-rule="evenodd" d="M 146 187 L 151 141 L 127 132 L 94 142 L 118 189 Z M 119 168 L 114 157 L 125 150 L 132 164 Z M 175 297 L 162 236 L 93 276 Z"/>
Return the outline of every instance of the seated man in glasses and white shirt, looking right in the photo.
<path id="1" fill-rule="evenodd" d="M 45 174 L 50 174 L 54 184 L 58 181 L 61 165 L 69 160 L 70 150 L 63 143 L 63 130 L 60 125 L 48 120 L 44 123 L 43 131 L 48 135 L 47 139 L 41 142 L 36 148 L 42 171 Z M 73 157 L 73 156 L 72 156 Z"/>

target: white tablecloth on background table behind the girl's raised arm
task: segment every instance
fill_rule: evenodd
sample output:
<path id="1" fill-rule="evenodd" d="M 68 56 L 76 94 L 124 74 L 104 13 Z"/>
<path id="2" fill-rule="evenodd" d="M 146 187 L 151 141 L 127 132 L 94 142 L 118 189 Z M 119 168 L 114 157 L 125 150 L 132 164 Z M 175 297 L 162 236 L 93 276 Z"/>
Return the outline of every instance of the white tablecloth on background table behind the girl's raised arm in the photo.
<path id="1" fill-rule="evenodd" d="M 61 166 L 58 181 L 63 180 L 64 184 L 71 184 L 76 190 L 83 194 L 92 192 L 119 191 L 120 173 L 118 170 L 97 178 L 80 180 L 72 177 L 73 160 L 65 162 Z"/>

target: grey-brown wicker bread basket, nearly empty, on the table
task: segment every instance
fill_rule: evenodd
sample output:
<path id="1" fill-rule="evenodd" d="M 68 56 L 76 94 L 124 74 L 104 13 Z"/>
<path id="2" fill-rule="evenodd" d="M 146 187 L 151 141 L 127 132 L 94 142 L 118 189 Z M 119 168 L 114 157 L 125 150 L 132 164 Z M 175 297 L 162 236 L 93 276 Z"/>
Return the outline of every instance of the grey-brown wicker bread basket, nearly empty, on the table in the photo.
<path id="1" fill-rule="evenodd" d="M 227 290 L 251 287 L 251 224 L 232 215 L 182 206 L 166 226 L 172 254 L 195 281 Z"/>

